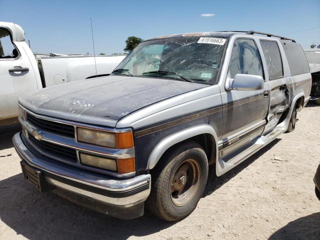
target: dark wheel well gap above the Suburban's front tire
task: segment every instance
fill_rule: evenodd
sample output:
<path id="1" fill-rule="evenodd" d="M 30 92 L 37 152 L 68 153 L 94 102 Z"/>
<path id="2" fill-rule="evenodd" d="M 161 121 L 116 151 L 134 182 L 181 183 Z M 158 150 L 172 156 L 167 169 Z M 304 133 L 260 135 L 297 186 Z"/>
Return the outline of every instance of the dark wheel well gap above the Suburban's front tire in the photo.
<path id="1" fill-rule="evenodd" d="M 168 149 L 163 152 L 162 156 L 160 157 L 159 162 L 165 158 L 165 156 L 170 153 L 173 149 L 175 149 L 177 146 L 180 146 L 184 144 L 187 141 L 195 141 L 197 142 L 204 150 L 206 153 L 207 159 L 208 159 L 208 164 L 212 164 L 215 162 L 216 159 L 216 145 L 214 141 L 214 137 L 209 134 L 209 133 L 202 133 L 199 135 L 192 136 L 190 138 L 184 139 L 183 141 L 177 142 L 174 145 L 170 146 Z"/>

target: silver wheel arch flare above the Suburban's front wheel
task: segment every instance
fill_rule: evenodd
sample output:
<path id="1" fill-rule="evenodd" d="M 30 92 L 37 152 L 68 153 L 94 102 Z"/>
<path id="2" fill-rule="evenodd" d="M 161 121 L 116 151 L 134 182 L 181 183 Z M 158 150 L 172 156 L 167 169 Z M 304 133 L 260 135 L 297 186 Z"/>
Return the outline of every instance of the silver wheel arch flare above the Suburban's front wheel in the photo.
<path id="1" fill-rule="evenodd" d="M 177 131 L 171 135 L 168 135 L 167 137 L 163 138 L 161 141 L 159 141 L 156 146 L 153 148 L 147 163 L 147 169 L 152 169 L 160 157 L 163 155 L 163 153 L 174 144 L 181 142 L 183 140 L 186 140 L 188 138 L 191 138 L 193 136 L 208 133 L 211 134 L 215 141 L 215 152 L 218 152 L 218 146 L 217 146 L 217 135 L 215 133 L 214 128 L 211 125 L 208 124 L 201 124 L 196 125 L 192 127 L 185 128 L 183 130 Z M 216 158 L 217 158 L 217 154 Z"/>

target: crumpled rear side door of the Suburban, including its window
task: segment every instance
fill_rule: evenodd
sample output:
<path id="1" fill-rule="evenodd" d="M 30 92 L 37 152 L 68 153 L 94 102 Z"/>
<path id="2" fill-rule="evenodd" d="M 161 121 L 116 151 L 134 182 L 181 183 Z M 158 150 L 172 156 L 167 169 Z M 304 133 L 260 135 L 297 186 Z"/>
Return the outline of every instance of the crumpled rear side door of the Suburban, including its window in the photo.
<path id="1" fill-rule="evenodd" d="M 265 131 L 273 129 L 289 105 L 290 76 L 285 76 L 279 44 L 276 40 L 260 40 L 267 67 L 269 110 Z"/>

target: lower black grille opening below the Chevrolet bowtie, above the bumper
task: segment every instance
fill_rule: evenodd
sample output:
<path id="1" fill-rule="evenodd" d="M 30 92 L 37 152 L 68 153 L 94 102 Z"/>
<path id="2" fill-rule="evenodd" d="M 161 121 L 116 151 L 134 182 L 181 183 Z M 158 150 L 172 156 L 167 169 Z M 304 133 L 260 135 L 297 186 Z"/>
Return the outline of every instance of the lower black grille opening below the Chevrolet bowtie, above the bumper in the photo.
<path id="1" fill-rule="evenodd" d="M 40 149 L 41 152 L 46 152 L 48 154 L 52 154 L 57 157 L 61 157 L 64 160 L 70 161 L 70 162 L 76 162 L 76 152 L 72 148 L 68 148 L 65 146 L 60 146 L 51 142 L 43 141 L 43 140 L 37 140 L 32 136 L 31 134 L 28 134 L 29 141 L 35 145 L 37 148 Z"/>

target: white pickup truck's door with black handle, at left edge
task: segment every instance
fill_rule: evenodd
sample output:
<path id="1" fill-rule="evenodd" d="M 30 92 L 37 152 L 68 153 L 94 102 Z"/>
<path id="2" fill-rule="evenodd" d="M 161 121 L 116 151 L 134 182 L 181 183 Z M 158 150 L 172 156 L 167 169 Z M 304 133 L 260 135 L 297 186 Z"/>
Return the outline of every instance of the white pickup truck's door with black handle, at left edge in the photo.
<path id="1" fill-rule="evenodd" d="M 24 41 L 11 39 L 10 32 L 0 27 L 0 125 L 17 122 L 19 95 L 38 88 L 23 45 L 30 49 Z"/>

